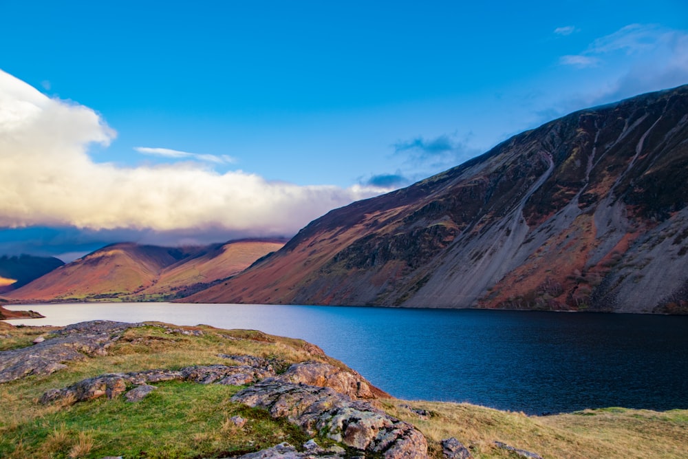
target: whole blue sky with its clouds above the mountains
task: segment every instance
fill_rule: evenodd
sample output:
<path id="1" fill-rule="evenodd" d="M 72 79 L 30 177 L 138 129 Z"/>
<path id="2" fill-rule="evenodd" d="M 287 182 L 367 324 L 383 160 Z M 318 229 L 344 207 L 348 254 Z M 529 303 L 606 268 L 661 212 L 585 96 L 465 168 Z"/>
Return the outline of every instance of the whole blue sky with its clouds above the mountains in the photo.
<path id="1" fill-rule="evenodd" d="M 290 236 L 570 111 L 688 83 L 683 0 L 369 3 L 0 0 L 5 110 L 44 115 L 22 137 L 0 113 L 0 252 Z"/>

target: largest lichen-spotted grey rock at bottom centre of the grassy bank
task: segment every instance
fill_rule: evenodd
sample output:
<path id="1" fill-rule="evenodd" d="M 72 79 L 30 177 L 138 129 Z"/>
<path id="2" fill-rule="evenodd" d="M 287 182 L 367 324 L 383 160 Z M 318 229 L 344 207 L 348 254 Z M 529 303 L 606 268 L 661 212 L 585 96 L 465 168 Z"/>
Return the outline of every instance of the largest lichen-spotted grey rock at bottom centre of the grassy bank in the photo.
<path id="1" fill-rule="evenodd" d="M 309 435 L 319 434 L 383 458 L 427 458 L 427 440 L 412 425 L 330 387 L 269 378 L 232 400 L 268 409 L 273 418 L 288 418 Z"/>

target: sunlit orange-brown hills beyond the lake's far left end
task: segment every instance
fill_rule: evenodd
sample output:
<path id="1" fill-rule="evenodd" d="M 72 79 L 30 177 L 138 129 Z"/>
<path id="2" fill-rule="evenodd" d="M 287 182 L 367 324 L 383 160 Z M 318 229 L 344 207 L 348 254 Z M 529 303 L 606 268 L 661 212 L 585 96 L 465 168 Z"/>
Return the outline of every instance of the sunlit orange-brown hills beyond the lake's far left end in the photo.
<path id="1" fill-rule="evenodd" d="M 24 302 L 167 299 L 233 275 L 281 246 L 275 240 L 190 248 L 112 244 L 7 296 Z"/>

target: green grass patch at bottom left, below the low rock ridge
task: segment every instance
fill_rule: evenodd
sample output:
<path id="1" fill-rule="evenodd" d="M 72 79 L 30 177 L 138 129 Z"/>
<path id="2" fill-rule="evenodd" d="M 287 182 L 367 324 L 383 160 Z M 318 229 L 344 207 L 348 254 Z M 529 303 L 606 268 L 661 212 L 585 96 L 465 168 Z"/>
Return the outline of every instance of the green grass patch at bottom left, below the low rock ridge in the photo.
<path id="1" fill-rule="evenodd" d="M 169 382 L 139 403 L 121 397 L 76 403 L 0 429 L 0 457 L 69 458 L 84 437 L 91 440 L 80 455 L 86 458 L 213 458 L 308 440 L 285 420 L 231 402 L 237 390 Z M 247 419 L 244 427 L 229 421 L 237 414 Z"/>

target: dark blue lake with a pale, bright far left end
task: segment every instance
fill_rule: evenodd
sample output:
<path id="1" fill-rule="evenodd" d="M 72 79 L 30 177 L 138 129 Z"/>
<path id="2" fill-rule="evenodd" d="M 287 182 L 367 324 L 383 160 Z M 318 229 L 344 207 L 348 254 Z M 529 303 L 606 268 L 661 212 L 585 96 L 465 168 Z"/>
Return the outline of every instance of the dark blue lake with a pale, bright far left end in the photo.
<path id="1" fill-rule="evenodd" d="M 526 414 L 688 408 L 688 317 L 171 303 L 21 305 L 45 319 L 164 321 L 305 339 L 410 400 Z"/>

